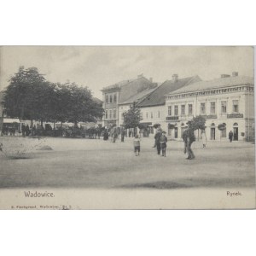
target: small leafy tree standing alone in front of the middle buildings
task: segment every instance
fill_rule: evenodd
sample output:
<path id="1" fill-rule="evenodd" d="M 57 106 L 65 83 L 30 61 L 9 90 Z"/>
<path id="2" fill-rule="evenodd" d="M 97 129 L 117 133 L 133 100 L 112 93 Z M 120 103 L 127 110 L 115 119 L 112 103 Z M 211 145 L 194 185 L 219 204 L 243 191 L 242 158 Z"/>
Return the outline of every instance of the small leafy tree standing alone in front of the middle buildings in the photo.
<path id="1" fill-rule="evenodd" d="M 125 129 L 136 128 L 141 120 L 141 111 L 137 107 L 136 103 L 133 102 L 130 109 L 123 113 Z"/>

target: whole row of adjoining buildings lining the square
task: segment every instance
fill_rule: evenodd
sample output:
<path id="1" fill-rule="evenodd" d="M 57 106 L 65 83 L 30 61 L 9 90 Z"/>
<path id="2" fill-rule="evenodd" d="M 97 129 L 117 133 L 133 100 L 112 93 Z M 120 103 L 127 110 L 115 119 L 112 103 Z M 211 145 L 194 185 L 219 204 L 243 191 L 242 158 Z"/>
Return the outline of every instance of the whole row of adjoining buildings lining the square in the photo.
<path id="1" fill-rule="evenodd" d="M 151 134 L 155 132 L 154 124 L 160 124 L 170 139 L 181 139 L 187 122 L 202 115 L 207 119 L 209 140 L 226 140 L 230 131 L 235 141 L 254 138 L 254 80 L 237 72 L 208 81 L 197 75 L 180 79 L 173 74 L 162 84 L 141 74 L 137 79 L 104 87 L 102 101 L 105 126 L 122 127 L 123 113 L 136 102 L 141 123 Z M 218 129 L 219 125 L 224 129 Z"/>

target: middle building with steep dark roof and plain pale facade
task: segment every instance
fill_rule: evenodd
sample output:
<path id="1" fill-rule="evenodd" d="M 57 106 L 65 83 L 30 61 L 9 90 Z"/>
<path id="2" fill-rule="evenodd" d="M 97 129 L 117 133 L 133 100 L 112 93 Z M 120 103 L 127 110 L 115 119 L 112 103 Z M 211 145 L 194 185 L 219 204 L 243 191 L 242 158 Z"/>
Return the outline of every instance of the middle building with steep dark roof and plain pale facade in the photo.
<path id="1" fill-rule="evenodd" d="M 189 84 L 201 81 L 199 76 L 178 79 L 177 74 L 172 75 L 172 80 L 166 80 L 156 90 L 146 96 L 143 101 L 138 103 L 141 109 L 142 121 L 144 125 L 148 125 L 148 132 L 154 133 L 154 124 L 160 124 L 162 129 L 166 127 L 166 98 L 165 96 L 173 90 L 187 87 Z"/>

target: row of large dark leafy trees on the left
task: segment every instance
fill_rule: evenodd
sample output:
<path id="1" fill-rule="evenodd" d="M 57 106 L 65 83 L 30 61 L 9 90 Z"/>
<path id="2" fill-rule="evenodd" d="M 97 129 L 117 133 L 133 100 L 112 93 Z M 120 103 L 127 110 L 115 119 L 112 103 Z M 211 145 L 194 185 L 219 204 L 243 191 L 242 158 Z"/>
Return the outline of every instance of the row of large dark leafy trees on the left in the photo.
<path id="1" fill-rule="evenodd" d="M 102 118 L 102 104 L 87 87 L 75 83 L 51 83 L 38 68 L 20 67 L 5 90 L 4 108 L 10 117 L 50 122 L 96 121 Z"/>

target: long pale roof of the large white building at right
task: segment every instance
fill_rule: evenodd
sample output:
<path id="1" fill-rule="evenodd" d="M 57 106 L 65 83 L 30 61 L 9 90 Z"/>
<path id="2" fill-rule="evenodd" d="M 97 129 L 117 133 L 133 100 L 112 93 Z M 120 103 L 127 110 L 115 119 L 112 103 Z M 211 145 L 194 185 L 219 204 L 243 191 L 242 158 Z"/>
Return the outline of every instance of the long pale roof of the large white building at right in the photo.
<path id="1" fill-rule="evenodd" d="M 208 81 L 200 81 L 194 84 L 189 84 L 187 86 L 184 86 L 183 88 L 180 88 L 178 90 L 172 91 L 172 93 L 169 94 L 180 94 L 185 92 L 192 92 L 192 91 L 200 91 L 200 90 L 211 90 L 211 89 L 220 89 L 224 87 L 231 87 L 236 85 L 242 85 L 242 84 L 254 84 L 254 79 L 251 77 L 245 77 L 245 76 L 236 76 L 236 77 L 228 77 L 228 78 L 222 78 L 222 79 L 212 79 Z"/>

